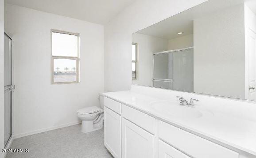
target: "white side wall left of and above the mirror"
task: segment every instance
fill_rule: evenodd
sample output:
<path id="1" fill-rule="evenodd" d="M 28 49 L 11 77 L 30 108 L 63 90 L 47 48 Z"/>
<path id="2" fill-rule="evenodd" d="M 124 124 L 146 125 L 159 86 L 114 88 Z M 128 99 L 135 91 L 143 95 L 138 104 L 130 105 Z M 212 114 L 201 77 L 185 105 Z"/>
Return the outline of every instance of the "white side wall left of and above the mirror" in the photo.
<path id="1" fill-rule="evenodd" d="M 132 33 L 207 0 L 137 0 L 105 25 L 105 90 L 132 84 Z"/>

